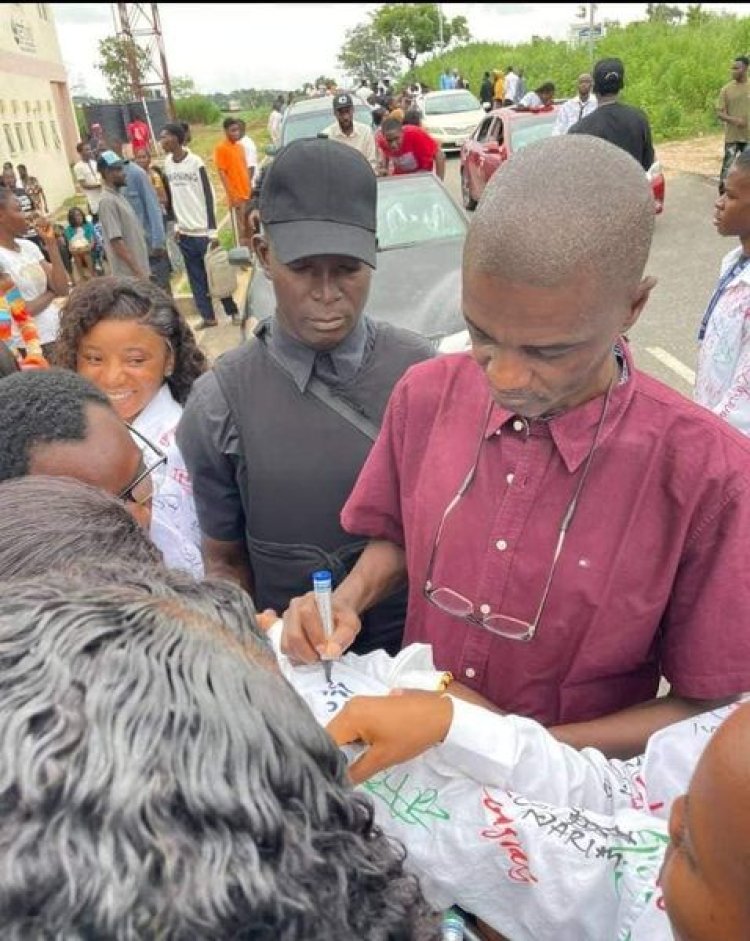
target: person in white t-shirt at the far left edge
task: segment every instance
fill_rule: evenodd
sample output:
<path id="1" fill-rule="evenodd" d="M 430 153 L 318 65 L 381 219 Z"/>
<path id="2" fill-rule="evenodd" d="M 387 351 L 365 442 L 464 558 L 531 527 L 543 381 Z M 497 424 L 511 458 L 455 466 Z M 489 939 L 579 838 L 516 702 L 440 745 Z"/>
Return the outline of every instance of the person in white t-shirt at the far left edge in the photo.
<path id="1" fill-rule="evenodd" d="M 0 270 L 11 276 L 26 301 L 39 333 L 42 352 L 49 359 L 60 321 L 60 309 L 55 299 L 68 293 L 68 272 L 60 255 L 54 227 L 35 224 L 50 261 L 45 260 L 34 242 L 23 237 L 28 228 L 29 220 L 22 212 L 17 196 L 7 187 L 0 186 Z"/>

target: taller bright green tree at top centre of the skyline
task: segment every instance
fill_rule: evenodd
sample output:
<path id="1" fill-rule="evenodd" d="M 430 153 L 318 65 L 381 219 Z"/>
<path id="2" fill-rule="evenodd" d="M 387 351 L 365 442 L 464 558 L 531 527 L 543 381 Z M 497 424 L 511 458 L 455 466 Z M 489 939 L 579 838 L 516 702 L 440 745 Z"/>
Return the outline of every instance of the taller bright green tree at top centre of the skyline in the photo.
<path id="1" fill-rule="evenodd" d="M 414 68 L 418 56 L 451 42 L 471 39 L 465 16 L 449 20 L 437 3 L 387 3 L 372 19 L 375 32 L 388 42 L 398 43 L 401 55 Z"/>

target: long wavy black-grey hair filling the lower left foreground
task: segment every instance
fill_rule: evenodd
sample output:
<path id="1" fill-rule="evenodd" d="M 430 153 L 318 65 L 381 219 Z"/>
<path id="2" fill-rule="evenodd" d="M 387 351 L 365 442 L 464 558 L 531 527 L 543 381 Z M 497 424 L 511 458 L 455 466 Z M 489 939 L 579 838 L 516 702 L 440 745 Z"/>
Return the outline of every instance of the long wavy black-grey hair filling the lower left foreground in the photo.
<path id="1" fill-rule="evenodd" d="M 3 937 L 436 941 L 240 589 L 121 576 L 0 597 Z"/>

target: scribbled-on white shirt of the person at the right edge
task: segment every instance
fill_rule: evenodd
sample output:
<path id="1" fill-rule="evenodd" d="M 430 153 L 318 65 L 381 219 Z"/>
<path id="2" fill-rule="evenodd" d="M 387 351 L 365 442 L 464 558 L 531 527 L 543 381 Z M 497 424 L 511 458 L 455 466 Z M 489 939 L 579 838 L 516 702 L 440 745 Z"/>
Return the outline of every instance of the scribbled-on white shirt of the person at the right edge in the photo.
<path id="1" fill-rule="evenodd" d="M 722 277 L 737 264 L 742 248 L 721 263 Z M 695 401 L 750 434 L 750 265 L 718 298 L 698 353 Z"/>

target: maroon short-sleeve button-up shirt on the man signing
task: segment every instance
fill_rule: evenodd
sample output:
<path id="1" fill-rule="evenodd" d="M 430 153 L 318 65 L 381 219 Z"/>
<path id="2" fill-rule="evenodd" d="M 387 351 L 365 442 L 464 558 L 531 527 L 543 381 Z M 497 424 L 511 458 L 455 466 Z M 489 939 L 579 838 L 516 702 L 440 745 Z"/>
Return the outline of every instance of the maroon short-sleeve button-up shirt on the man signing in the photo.
<path id="1" fill-rule="evenodd" d="M 432 581 L 531 621 L 601 398 L 530 423 L 493 405 L 487 421 L 489 388 L 468 354 L 415 366 L 342 513 L 349 532 L 406 550 L 404 642 L 432 644 L 439 669 L 547 725 L 651 699 L 662 674 L 696 699 L 750 689 L 750 442 L 629 359 L 627 375 L 528 643 L 425 599 L 435 532 L 484 436 Z"/>

